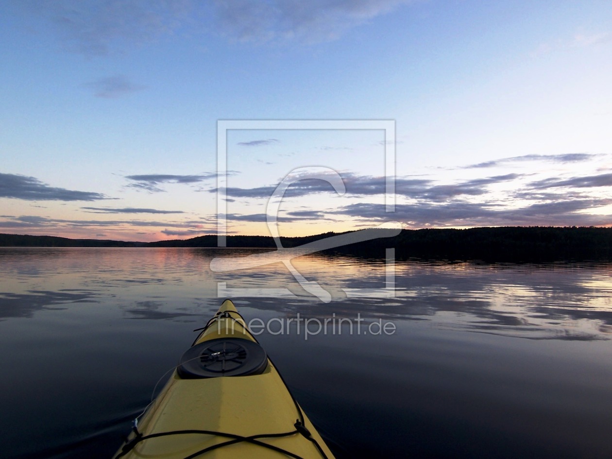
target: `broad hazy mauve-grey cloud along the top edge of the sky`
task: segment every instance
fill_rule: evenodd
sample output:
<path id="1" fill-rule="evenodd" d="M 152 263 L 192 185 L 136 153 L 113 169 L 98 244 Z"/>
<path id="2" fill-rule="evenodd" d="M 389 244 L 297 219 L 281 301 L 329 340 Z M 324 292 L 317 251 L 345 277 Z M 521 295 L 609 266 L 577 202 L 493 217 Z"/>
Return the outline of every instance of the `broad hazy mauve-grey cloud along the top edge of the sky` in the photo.
<path id="1" fill-rule="evenodd" d="M 53 24 L 64 47 L 105 56 L 179 32 L 213 31 L 239 42 L 317 43 L 385 15 L 410 0 L 23 0 L 27 15 Z"/>

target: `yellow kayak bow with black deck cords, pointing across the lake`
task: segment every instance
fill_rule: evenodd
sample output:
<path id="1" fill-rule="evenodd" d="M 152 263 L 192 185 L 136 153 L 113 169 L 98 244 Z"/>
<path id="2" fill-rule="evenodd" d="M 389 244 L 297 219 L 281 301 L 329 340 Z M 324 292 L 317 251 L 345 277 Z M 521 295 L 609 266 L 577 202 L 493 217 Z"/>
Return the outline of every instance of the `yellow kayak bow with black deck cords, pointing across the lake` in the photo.
<path id="1" fill-rule="evenodd" d="M 225 349 L 226 342 L 244 343 L 241 340 L 256 342 L 234 304 L 225 300 L 215 318 L 196 339 L 194 346 L 200 346 L 190 351 L 213 345 L 217 346 L 214 349 L 221 349 L 220 346 Z M 247 343 L 247 351 L 243 354 L 250 353 L 251 343 Z M 332 459 L 332 453 L 289 393 L 272 362 L 265 354 L 263 356 L 263 366 L 256 370 L 259 374 L 248 376 L 185 379 L 192 377 L 181 373 L 182 368 L 175 370 L 159 397 L 138 420 L 140 436 L 134 431 L 115 458 Z M 202 359 L 189 360 L 199 362 Z M 227 365 L 234 365 L 233 360 L 228 362 Z M 221 365 L 225 368 L 226 364 L 215 363 L 203 371 L 223 374 Z M 166 435 L 170 432 L 174 433 Z M 285 435 L 266 436 L 271 434 Z"/>

